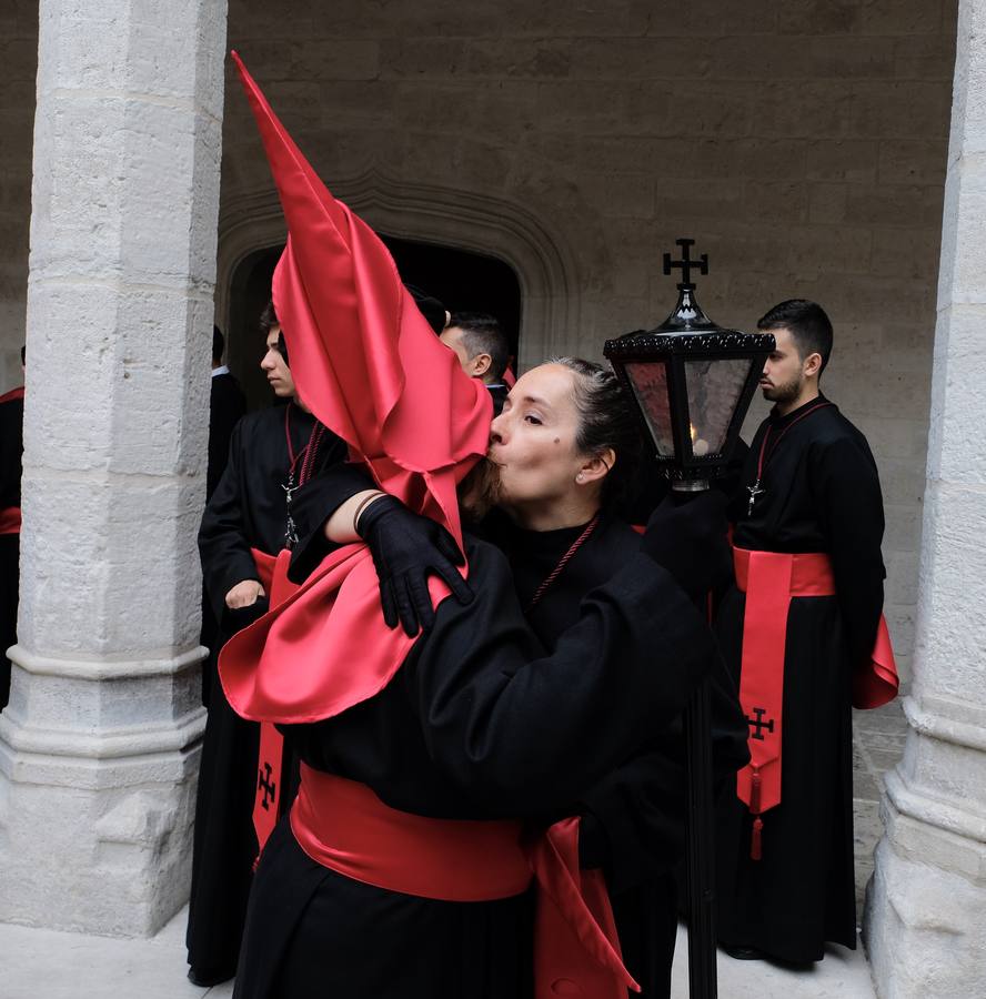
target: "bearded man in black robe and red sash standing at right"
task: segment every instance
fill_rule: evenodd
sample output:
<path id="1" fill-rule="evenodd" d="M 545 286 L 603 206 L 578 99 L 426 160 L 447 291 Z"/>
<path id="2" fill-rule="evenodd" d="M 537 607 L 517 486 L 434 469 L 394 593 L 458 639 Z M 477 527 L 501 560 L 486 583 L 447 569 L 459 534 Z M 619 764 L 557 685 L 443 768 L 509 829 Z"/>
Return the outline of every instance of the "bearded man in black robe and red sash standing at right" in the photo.
<path id="1" fill-rule="evenodd" d="M 866 438 L 819 391 L 828 316 L 793 300 L 757 325 L 776 340 L 761 380 L 774 408 L 746 458 L 716 623 L 752 761 L 716 828 L 718 935 L 733 957 L 808 962 L 826 941 L 856 946 L 851 709 L 896 693 L 884 514 Z"/>

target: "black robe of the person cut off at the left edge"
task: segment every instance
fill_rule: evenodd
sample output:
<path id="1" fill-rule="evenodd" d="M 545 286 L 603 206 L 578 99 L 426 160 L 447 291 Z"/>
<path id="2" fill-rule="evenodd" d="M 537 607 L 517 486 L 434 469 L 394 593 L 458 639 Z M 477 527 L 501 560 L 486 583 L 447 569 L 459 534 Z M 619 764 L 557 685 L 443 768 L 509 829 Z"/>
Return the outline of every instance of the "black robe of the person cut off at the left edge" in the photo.
<path id="1" fill-rule="evenodd" d="M 0 403 L 0 509 L 20 506 L 23 456 L 23 398 Z M 17 602 L 20 586 L 20 532 L 0 534 L 0 710 L 10 696 L 7 649 L 17 642 Z"/>

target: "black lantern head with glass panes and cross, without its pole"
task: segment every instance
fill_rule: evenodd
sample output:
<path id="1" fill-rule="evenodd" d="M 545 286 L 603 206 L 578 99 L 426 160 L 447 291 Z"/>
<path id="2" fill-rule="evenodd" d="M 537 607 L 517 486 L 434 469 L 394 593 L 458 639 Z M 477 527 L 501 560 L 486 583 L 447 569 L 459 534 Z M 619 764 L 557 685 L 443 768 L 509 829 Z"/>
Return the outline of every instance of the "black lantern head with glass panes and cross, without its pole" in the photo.
<path id="1" fill-rule="evenodd" d="M 664 254 L 664 273 L 683 278 L 674 312 L 655 330 L 607 340 L 603 353 L 636 400 L 662 472 L 678 490 L 702 490 L 725 472 L 774 337 L 712 322 L 692 281 L 693 270 L 708 273 L 708 255 L 692 260 L 695 241 L 675 242 L 682 260 Z"/>

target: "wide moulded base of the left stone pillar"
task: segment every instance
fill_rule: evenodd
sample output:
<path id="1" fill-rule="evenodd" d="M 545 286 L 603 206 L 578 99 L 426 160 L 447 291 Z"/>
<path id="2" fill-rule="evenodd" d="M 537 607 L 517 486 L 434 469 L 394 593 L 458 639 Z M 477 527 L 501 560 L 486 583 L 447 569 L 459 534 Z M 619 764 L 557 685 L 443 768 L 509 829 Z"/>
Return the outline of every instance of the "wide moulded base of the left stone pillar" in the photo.
<path id="1" fill-rule="evenodd" d="M 148 937 L 188 901 L 203 653 L 95 664 L 11 649 L 0 921 Z"/>

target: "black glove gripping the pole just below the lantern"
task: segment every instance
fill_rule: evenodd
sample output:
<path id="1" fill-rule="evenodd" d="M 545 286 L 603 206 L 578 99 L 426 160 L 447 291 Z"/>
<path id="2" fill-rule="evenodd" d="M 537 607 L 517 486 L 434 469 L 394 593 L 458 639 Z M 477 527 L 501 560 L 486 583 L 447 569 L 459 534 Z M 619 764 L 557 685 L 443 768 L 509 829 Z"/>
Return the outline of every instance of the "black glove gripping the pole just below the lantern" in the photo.
<path id="1" fill-rule="evenodd" d="M 641 549 L 674 576 L 693 599 L 730 579 L 733 558 L 726 537 L 726 497 L 706 491 L 676 503 L 674 495 L 651 514 Z"/>

